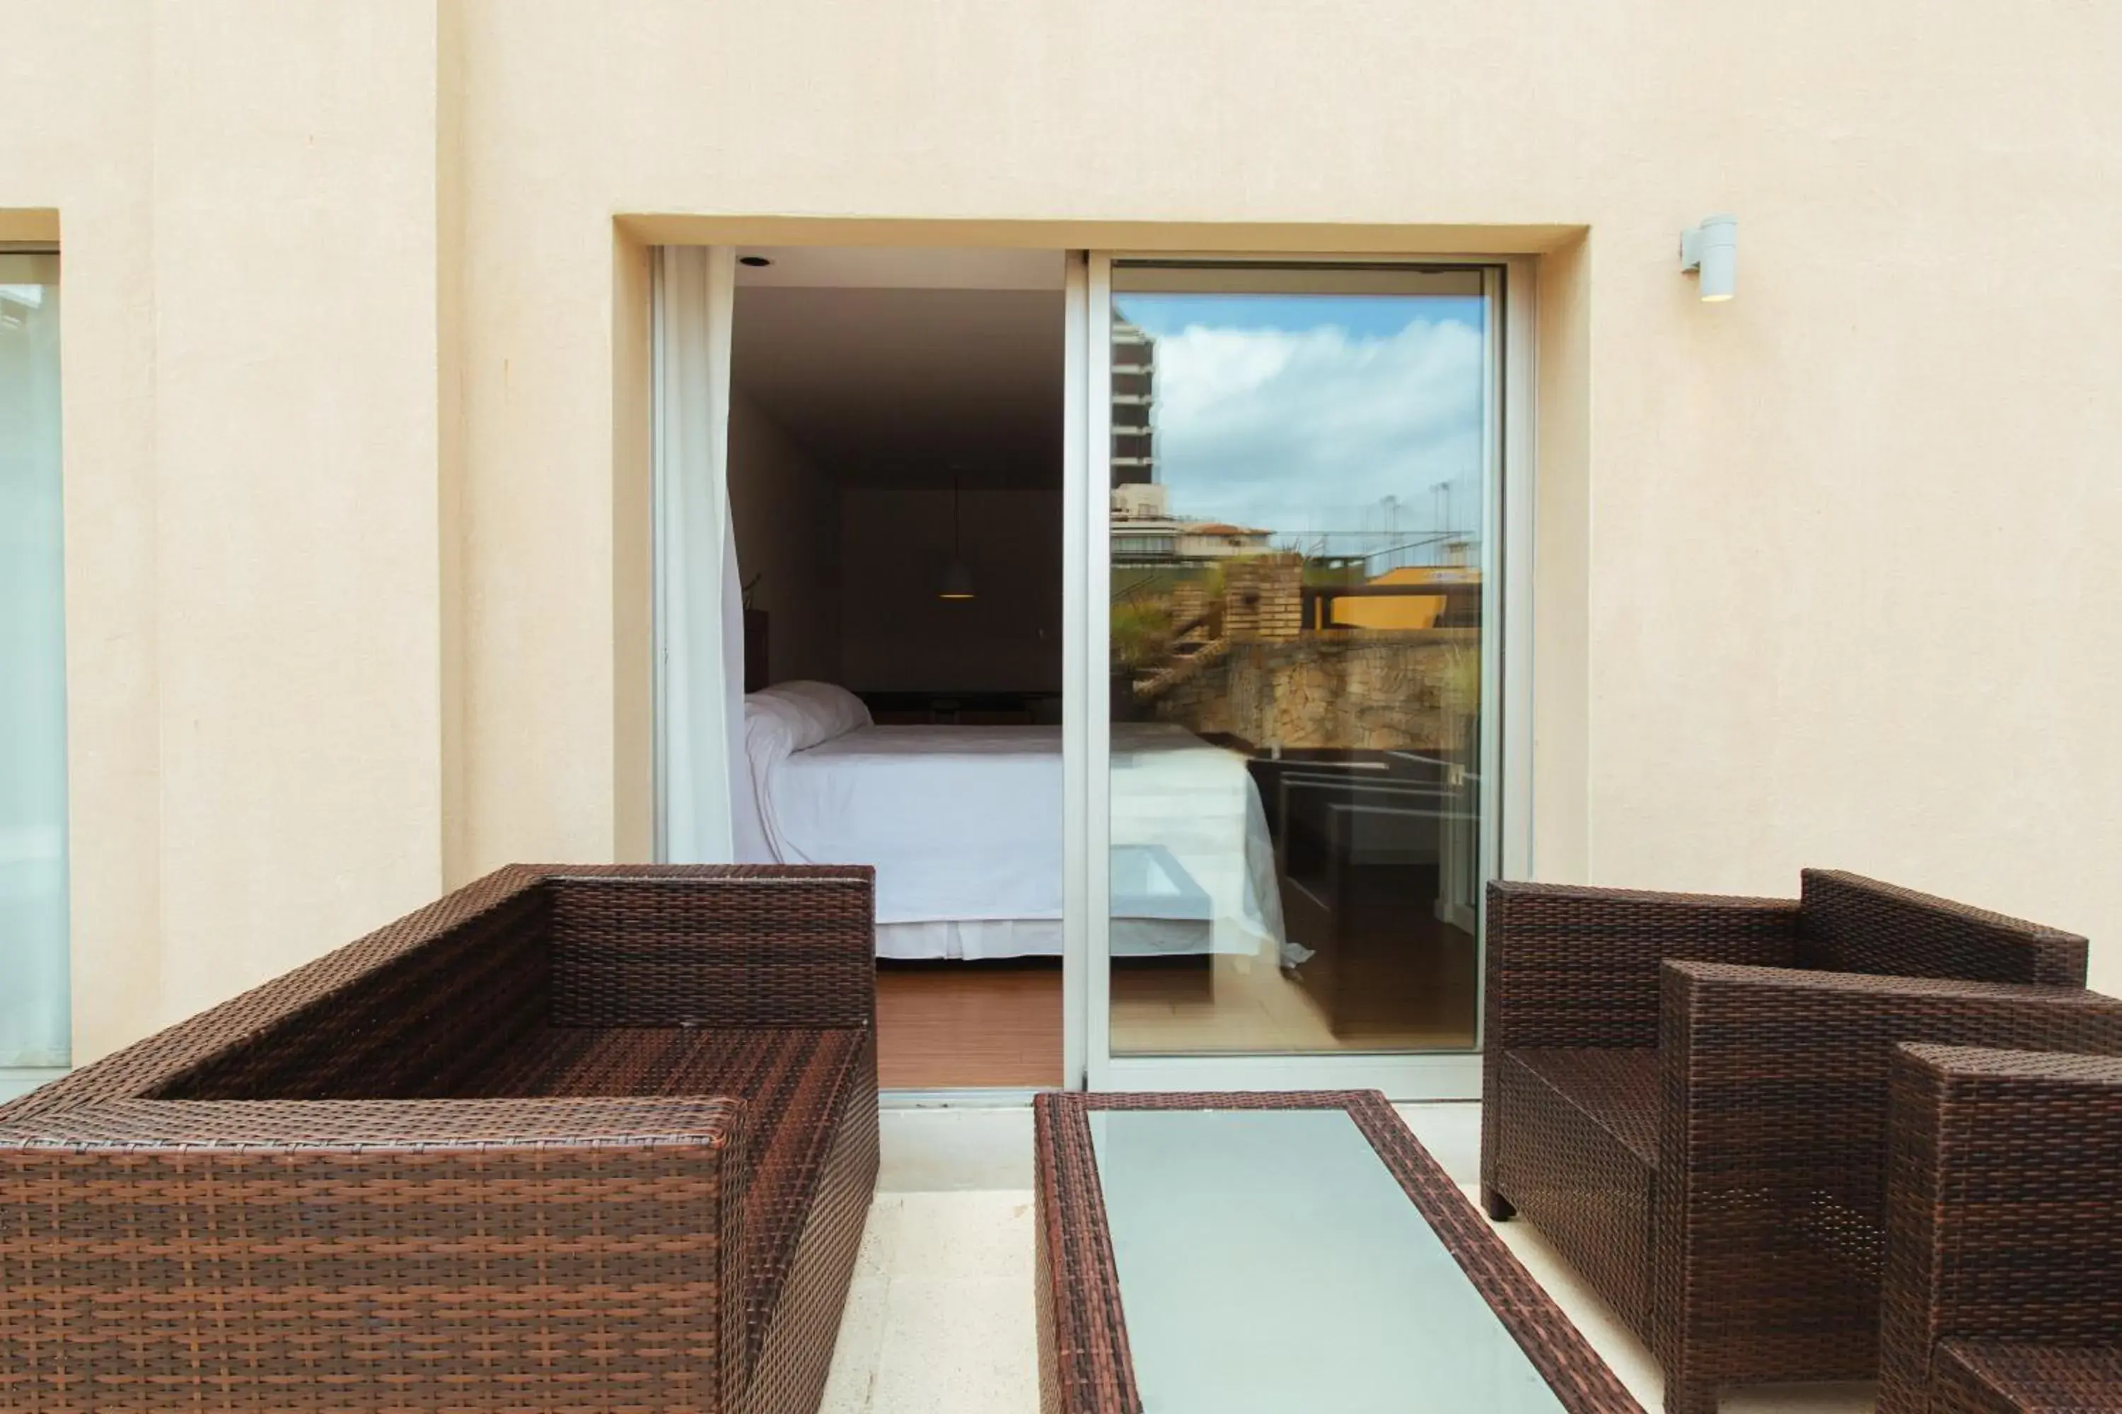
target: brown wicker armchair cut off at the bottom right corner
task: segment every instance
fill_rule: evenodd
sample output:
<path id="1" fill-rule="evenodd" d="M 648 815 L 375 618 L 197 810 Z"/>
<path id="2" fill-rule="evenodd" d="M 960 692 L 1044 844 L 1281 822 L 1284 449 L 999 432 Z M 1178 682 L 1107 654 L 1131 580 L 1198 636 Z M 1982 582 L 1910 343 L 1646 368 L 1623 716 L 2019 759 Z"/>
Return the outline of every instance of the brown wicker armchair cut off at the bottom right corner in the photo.
<path id="1" fill-rule="evenodd" d="M 2122 1410 L 2122 1060 L 1895 1051 L 1880 1414 Z"/>

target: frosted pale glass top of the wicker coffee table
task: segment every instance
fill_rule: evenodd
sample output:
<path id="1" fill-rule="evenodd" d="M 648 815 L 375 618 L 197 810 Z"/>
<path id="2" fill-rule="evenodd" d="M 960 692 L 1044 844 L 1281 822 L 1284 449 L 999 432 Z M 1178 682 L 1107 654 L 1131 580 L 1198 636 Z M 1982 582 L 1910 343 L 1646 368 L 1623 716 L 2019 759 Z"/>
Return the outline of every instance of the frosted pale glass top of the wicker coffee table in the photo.
<path id="1" fill-rule="evenodd" d="M 1089 1119 L 1146 1414 L 1562 1410 L 1347 1111 Z"/>

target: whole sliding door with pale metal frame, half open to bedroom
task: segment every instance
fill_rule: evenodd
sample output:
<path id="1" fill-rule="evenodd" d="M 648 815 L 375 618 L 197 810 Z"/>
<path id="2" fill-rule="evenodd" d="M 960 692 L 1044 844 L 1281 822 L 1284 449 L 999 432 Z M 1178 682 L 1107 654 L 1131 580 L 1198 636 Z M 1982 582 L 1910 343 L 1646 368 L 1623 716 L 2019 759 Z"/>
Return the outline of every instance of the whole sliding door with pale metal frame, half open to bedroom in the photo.
<path id="1" fill-rule="evenodd" d="M 662 848 L 876 865 L 883 1083 L 1471 1098 L 1530 263 L 658 271 Z"/>

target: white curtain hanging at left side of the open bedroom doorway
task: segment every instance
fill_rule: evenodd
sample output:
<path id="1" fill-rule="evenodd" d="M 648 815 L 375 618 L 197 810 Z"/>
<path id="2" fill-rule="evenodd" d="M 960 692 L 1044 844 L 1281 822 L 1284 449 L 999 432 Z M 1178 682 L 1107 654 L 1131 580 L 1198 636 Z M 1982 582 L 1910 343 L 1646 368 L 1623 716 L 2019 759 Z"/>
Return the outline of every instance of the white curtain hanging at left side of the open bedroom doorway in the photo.
<path id="1" fill-rule="evenodd" d="M 662 859 L 753 856 L 738 818 L 745 606 L 730 522 L 728 246 L 656 252 L 656 638 Z"/>

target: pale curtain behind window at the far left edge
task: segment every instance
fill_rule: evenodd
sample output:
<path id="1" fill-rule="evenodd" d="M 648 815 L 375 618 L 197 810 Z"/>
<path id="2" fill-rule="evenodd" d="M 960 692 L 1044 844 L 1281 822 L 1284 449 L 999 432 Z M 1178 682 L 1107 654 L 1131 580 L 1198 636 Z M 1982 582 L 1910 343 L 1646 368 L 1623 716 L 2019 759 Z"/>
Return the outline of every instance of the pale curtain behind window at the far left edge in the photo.
<path id="1" fill-rule="evenodd" d="M 0 252 L 0 1068 L 68 1058 L 62 534 L 59 257 Z"/>

